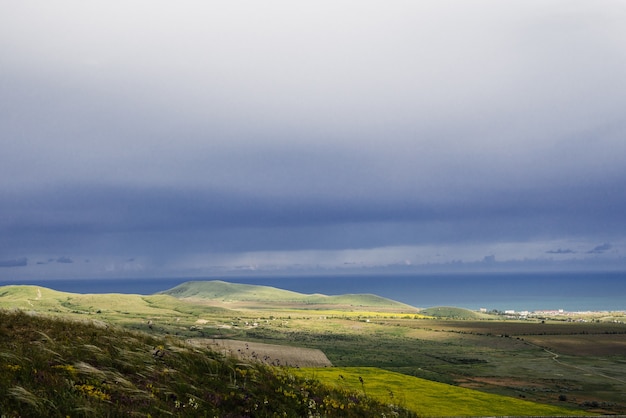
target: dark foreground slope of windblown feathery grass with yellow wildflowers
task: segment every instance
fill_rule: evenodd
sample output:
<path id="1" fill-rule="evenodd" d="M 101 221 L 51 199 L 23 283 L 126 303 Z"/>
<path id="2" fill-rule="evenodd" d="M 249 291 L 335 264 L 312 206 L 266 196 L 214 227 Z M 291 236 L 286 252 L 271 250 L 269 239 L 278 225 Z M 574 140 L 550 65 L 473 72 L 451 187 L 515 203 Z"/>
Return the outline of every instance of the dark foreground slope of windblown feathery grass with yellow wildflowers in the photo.
<path id="1" fill-rule="evenodd" d="M 414 416 L 287 369 L 93 321 L 0 310 L 0 415 Z"/>

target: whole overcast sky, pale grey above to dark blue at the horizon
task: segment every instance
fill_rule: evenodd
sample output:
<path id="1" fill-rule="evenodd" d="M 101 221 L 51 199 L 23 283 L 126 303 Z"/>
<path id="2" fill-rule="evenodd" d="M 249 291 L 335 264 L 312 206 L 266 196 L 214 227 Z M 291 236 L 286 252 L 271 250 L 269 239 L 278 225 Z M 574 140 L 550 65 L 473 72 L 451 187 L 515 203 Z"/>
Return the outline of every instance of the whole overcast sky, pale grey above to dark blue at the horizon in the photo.
<path id="1" fill-rule="evenodd" d="M 624 74 L 624 1 L 0 0 L 0 280 L 626 271 Z"/>

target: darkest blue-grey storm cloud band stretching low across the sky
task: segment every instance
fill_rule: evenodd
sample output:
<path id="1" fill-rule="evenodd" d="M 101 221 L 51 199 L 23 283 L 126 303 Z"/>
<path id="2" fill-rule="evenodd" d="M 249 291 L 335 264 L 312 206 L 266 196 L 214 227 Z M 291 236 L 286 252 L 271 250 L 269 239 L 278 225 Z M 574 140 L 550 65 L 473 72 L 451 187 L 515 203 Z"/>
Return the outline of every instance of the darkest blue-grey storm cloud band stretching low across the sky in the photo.
<path id="1" fill-rule="evenodd" d="M 172 253 L 188 251 L 187 246 L 251 251 L 530 239 L 546 230 L 615 232 L 611 228 L 626 210 L 623 201 L 597 199 L 602 191 L 558 192 L 558 199 L 553 197 L 557 191 L 547 188 L 491 191 L 442 202 L 409 195 L 320 198 L 306 193 L 66 187 L 3 202 L 11 219 L 3 224 L 9 243 L 4 250 L 19 248 L 20 242 L 26 244 L 22 251 L 28 246 L 52 250 L 59 244 L 97 244 L 111 250 L 120 243 L 130 251 L 141 250 L 145 242 L 146 248 Z M 572 207 L 578 210 L 568 213 Z"/>

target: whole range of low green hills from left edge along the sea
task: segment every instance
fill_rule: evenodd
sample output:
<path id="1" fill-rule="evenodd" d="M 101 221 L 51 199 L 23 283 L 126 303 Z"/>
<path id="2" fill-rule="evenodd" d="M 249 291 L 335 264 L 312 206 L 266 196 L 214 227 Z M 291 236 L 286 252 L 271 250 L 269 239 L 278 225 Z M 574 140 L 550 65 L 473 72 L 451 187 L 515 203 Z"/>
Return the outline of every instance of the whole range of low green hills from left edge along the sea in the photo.
<path id="1" fill-rule="evenodd" d="M 17 308 L 57 314 L 180 316 L 200 315 L 224 308 L 375 309 L 416 313 L 417 308 L 371 294 L 327 296 L 302 294 L 270 286 L 228 283 L 219 280 L 190 281 L 154 295 L 80 294 L 41 286 L 0 287 L 0 308 Z M 216 306 L 217 305 L 217 306 Z M 224 311 L 225 312 L 225 311 Z"/>

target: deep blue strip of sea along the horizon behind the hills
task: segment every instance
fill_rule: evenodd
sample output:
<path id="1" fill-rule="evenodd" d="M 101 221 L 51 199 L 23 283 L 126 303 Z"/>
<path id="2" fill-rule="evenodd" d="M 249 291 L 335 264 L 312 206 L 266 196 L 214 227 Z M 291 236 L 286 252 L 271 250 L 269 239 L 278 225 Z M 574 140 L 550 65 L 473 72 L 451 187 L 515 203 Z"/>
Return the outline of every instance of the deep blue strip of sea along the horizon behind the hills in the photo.
<path id="1" fill-rule="evenodd" d="M 74 293 L 153 294 L 190 280 L 224 280 L 300 293 L 372 293 L 409 305 L 488 310 L 624 311 L 626 272 L 318 275 L 0 281 Z"/>

